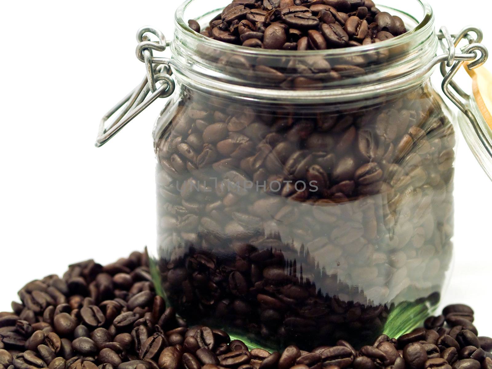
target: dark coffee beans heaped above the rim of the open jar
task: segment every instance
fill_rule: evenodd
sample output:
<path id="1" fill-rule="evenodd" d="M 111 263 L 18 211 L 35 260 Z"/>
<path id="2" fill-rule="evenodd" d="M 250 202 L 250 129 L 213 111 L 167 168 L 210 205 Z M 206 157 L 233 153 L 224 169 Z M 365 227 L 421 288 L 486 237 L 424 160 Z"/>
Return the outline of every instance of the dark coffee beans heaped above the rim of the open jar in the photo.
<path id="1" fill-rule="evenodd" d="M 218 41 L 276 50 L 368 45 L 406 32 L 402 19 L 372 0 L 234 0 L 201 31 Z"/>

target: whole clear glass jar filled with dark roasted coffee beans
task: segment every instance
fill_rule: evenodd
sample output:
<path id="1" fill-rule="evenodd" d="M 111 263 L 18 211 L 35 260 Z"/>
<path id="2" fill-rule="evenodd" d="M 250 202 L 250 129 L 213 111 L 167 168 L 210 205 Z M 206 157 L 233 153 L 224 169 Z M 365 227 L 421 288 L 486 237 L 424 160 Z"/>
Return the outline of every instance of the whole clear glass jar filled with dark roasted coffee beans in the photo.
<path id="1" fill-rule="evenodd" d="M 436 57 L 450 37 L 420 0 L 378 4 L 410 31 L 348 49 L 250 49 L 186 25 L 229 2 L 180 6 L 172 59 L 137 49 L 167 82 L 143 97 L 170 89 L 152 63 L 176 83 L 153 132 L 157 290 L 189 325 L 271 349 L 406 333 L 437 307 L 453 249 L 454 120 L 432 67 L 476 53 Z"/>

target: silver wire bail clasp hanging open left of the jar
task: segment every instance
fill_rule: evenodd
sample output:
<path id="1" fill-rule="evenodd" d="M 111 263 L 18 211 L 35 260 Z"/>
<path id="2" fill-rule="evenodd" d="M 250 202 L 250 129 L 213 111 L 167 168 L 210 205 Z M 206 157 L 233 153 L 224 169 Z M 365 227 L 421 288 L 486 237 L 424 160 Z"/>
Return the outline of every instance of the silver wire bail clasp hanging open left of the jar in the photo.
<path id="1" fill-rule="evenodd" d="M 151 41 L 148 36 L 149 33 L 156 36 L 158 41 Z M 150 26 L 142 27 L 137 31 L 137 41 L 138 45 L 135 53 L 137 59 L 145 63 L 146 75 L 142 82 L 102 117 L 99 123 L 96 147 L 101 147 L 108 142 L 157 98 L 169 97 L 174 92 L 175 83 L 171 78 L 172 71 L 169 66 L 171 60 L 168 58 L 156 58 L 153 55 L 153 50 L 162 52 L 166 50 L 170 42 L 166 41 L 166 37 L 161 31 Z M 160 82 L 158 87 L 157 82 Z M 150 96 L 148 96 L 149 93 L 151 93 Z M 115 117 L 113 122 L 106 127 L 106 122 L 120 110 L 121 112 Z"/>

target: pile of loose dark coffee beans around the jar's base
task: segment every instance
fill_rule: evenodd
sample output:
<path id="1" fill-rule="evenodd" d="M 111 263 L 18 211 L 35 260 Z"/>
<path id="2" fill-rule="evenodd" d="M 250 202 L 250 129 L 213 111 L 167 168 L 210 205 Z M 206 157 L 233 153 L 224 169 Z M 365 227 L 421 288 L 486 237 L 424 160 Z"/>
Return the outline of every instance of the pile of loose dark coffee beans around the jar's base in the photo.
<path id="1" fill-rule="evenodd" d="M 473 310 L 464 305 L 360 350 L 343 340 L 310 351 L 249 350 L 220 329 L 187 328 L 155 294 L 140 252 L 106 266 L 71 265 L 62 278 L 29 282 L 19 297 L 13 312 L 0 312 L 0 369 L 492 368 L 492 338 L 477 337 Z"/>

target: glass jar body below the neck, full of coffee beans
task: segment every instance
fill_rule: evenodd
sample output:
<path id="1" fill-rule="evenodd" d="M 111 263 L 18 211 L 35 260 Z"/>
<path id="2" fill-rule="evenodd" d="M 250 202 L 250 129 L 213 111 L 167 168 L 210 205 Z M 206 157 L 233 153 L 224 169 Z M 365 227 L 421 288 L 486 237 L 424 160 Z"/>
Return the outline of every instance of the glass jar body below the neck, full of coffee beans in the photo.
<path id="1" fill-rule="evenodd" d="M 156 283 L 189 324 L 312 348 L 433 311 L 455 134 L 429 81 L 347 108 L 179 88 L 154 130 Z"/>

